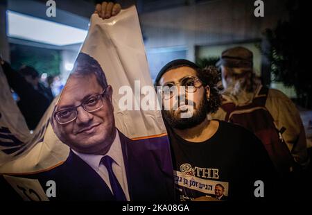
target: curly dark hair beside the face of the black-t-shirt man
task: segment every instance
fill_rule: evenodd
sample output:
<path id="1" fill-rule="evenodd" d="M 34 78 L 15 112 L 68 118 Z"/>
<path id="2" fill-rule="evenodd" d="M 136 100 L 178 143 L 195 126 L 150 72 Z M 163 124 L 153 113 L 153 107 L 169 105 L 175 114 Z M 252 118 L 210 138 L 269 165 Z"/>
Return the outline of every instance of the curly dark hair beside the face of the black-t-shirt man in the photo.
<path id="1" fill-rule="evenodd" d="M 204 87 L 209 86 L 210 88 L 210 98 L 207 105 L 209 113 L 214 113 L 221 105 L 221 95 L 217 87 L 220 81 L 218 69 L 214 66 L 209 66 L 203 69 L 196 69 L 196 73 L 202 85 L 204 85 Z"/>

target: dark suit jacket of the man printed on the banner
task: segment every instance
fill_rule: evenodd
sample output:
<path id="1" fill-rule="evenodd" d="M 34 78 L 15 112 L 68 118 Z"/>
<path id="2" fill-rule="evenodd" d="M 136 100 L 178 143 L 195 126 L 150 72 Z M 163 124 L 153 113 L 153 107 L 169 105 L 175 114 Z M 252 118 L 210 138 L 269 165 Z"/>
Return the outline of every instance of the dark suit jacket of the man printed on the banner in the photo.
<path id="1" fill-rule="evenodd" d="M 131 140 L 119 132 L 130 200 L 173 200 L 174 182 L 168 137 Z M 70 151 L 64 164 L 50 171 L 23 175 L 46 182 L 54 180 L 56 197 L 50 200 L 115 200 L 103 179 Z"/>

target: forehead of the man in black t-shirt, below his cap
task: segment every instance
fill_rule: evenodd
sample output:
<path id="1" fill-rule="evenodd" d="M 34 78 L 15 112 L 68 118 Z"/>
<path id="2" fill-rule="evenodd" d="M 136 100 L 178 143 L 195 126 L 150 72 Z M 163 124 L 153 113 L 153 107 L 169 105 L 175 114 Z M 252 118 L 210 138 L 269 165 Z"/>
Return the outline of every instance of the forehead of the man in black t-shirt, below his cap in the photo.
<path id="1" fill-rule="evenodd" d="M 170 69 L 159 79 L 159 84 L 163 85 L 167 82 L 178 82 L 181 78 L 185 76 L 197 77 L 195 69 L 191 67 L 179 67 L 176 69 Z"/>

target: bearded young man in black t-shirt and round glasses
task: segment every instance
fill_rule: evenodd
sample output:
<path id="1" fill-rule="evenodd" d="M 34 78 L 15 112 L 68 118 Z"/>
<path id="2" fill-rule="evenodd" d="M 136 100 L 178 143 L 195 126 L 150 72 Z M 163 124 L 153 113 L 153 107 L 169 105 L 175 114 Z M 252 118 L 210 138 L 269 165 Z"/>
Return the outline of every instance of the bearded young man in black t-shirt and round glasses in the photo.
<path id="1" fill-rule="evenodd" d="M 228 200 L 252 200 L 257 180 L 266 184 L 264 197 L 270 198 L 276 172 L 261 141 L 241 126 L 209 120 L 221 102 L 217 83 L 216 67 L 200 69 L 188 60 L 168 62 L 155 79 L 162 104 L 171 104 L 167 110 L 163 105 L 162 115 L 177 198 L 217 200 L 213 187 L 221 184 Z M 188 110 L 193 110 L 191 116 L 182 117 Z"/>

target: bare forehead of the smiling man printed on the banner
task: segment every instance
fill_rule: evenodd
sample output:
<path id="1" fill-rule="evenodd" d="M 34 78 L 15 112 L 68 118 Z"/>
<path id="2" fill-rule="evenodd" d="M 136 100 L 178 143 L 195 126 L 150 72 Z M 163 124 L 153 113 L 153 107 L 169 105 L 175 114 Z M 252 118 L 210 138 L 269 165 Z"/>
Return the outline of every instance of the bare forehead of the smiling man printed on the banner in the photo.
<path id="1" fill-rule="evenodd" d="M 62 91 L 58 106 L 77 105 L 87 96 L 101 93 L 102 90 L 94 74 L 88 76 L 71 75 Z"/>

